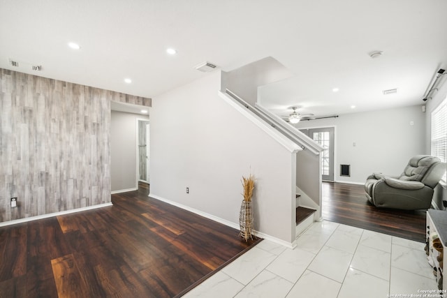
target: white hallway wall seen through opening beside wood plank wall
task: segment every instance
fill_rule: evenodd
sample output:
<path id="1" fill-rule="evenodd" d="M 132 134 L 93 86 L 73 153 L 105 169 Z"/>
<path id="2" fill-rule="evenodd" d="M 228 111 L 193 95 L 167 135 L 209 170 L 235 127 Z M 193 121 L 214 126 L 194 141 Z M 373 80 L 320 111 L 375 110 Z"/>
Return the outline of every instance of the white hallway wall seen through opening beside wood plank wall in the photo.
<path id="1" fill-rule="evenodd" d="M 125 112 L 111 112 L 110 180 L 112 192 L 138 188 L 137 119 L 148 117 Z"/>

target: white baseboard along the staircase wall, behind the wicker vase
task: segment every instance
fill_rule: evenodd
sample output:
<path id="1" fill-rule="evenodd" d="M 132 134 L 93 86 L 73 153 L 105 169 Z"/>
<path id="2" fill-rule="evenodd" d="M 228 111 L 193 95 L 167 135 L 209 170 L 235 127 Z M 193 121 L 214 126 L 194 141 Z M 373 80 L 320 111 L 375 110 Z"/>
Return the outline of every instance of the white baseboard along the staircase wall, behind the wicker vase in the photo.
<path id="1" fill-rule="evenodd" d="M 216 221 L 217 223 L 221 223 L 222 225 L 226 225 L 226 226 L 228 226 L 230 228 L 233 228 L 233 229 L 236 229 L 236 230 L 240 230 L 239 223 L 233 223 L 232 221 L 227 221 L 226 219 L 220 218 L 218 216 L 214 216 L 212 214 L 200 211 L 200 210 L 195 209 L 195 208 L 191 208 L 191 207 L 185 206 L 184 204 L 179 204 L 179 203 L 173 202 L 171 200 L 166 200 L 165 198 L 161 198 L 158 195 L 153 195 L 152 193 L 149 193 L 149 197 L 154 198 L 156 200 L 159 200 L 161 202 L 166 202 L 166 203 L 171 204 L 171 205 L 173 205 L 175 207 L 179 207 L 179 208 L 182 208 L 184 210 L 190 211 L 190 212 L 192 212 L 194 214 L 198 214 L 198 215 L 203 216 L 205 218 L 211 219 L 212 221 Z M 280 244 L 282 246 L 286 246 L 287 248 L 292 248 L 293 249 L 296 246 L 295 241 L 293 241 L 293 242 L 284 241 L 284 240 L 278 239 L 276 237 L 272 237 L 269 234 L 264 234 L 263 232 L 253 231 L 253 234 L 256 237 L 261 237 L 263 239 L 270 240 L 270 241 L 272 241 L 274 243 Z"/>

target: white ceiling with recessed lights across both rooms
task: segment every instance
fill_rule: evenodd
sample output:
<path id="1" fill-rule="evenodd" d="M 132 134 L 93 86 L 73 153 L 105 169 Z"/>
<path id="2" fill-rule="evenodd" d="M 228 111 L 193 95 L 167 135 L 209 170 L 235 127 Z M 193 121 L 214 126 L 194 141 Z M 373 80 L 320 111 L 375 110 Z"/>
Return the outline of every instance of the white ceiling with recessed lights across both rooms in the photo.
<path id="1" fill-rule="evenodd" d="M 0 68 L 152 98 L 206 75 L 203 61 L 274 57 L 295 76 L 261 87 L 263 105 L 377 110 L 423 103 L 447 66 L 446 13 L 446 0 L 0 0 Z"/>

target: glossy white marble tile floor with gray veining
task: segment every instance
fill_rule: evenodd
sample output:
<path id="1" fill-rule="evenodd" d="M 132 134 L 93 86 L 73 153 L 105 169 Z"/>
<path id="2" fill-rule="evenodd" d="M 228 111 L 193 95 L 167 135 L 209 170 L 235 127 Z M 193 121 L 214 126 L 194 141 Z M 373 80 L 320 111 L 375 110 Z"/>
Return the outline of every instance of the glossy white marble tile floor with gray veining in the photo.
<path id="1" fill-rule="evenodd" d="M 416 241 L 322 221 L 296 242 L 289 249 L 263 240 L 183 297 L 388 298 L 437 290 Z"/>

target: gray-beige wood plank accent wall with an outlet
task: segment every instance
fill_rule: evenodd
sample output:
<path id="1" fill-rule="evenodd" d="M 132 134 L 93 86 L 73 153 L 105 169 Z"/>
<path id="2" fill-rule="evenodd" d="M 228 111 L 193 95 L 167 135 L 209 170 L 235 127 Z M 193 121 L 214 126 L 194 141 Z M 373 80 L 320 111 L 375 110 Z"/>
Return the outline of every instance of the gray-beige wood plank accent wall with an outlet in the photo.
<path id="1" fill-rule="evenodd" d="M 110 100 L 151 99 L 0 70 L 0 222 L 110 202 Z"/>

